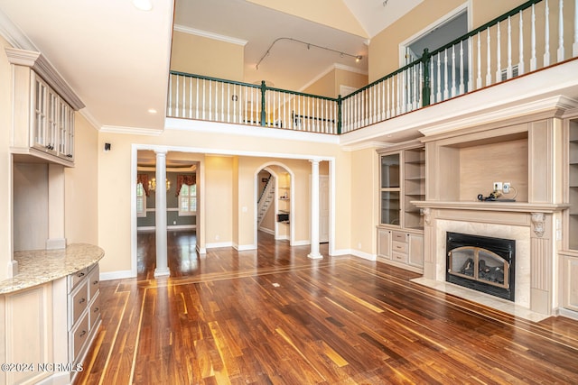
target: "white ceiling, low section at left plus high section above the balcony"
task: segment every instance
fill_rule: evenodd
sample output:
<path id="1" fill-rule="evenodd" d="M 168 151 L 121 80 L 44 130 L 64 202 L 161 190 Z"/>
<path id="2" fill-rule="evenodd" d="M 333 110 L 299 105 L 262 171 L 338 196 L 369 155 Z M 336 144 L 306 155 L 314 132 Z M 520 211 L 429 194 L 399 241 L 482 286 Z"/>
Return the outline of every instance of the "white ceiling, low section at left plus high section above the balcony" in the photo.
<path id="1" fill-rule="evenodd" d="M 337 0 L 335 0 L 337 1 Z M 343 0 L 368 36 L 423 0 Z M 138 11 L 131 0 L 0 0 L 0 33 L 16 48 L 39 50 L 61 73 L 98 129 L 163 130 L 174 23 L 247 41 L 246 81 L 298 90 L 338 64 L 367 71 L 367 37 L 284 14 L 245 0 L 153 0 Z M 307 41 L 353 55 L 278 41 Z M 149 109 L 157 111 L 149 113 Z"/>

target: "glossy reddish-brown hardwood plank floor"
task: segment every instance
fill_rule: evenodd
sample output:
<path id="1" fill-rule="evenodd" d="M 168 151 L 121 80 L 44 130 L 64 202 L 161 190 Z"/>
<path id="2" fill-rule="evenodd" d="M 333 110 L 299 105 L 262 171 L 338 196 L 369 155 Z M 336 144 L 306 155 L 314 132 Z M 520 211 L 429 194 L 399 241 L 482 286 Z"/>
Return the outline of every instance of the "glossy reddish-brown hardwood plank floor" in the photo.
<path id="1" fill-rule="evenodd" d="M 103 322 L 78 384 L 576 384 L 578 322 L 532 323 L 354 257 L 309 260 L 260 234 L 258 251 L 171 233 L 155 280 L 101 284 Z"/>

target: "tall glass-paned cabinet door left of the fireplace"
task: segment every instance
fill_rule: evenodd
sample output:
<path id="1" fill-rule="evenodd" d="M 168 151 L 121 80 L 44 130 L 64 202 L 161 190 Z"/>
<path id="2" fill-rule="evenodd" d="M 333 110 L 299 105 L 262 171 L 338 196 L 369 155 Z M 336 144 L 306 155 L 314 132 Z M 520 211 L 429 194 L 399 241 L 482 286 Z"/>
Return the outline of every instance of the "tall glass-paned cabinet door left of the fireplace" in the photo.
<path id="1" fill-rule="evenodd" d="M 380 208 L 381 225 L 401 225 L 400 154 L 381 155 Z"/>

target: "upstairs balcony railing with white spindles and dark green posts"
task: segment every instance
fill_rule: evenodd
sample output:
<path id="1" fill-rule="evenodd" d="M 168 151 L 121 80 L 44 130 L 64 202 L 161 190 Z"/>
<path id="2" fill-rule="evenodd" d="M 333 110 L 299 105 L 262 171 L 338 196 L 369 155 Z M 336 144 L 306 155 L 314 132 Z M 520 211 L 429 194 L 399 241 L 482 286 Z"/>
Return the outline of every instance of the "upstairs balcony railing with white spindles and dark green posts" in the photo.
<path id="1" fill-rule="evenodd" d="M 337 98 L 172 71 L 167 117 L 342 135 L 548 69 L 564 68 L 542 82 L 570 81 L 573 93 L 576 58 L 578 0 L 531 0 Z"/>

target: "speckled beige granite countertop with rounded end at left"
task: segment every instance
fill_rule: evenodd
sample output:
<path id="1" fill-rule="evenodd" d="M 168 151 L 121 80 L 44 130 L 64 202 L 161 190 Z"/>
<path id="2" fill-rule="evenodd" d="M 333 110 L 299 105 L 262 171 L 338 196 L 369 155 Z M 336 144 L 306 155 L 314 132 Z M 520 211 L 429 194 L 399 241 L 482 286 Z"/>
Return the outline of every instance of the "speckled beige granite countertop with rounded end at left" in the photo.
<path id="1" fill-rule="evenodd" d="M 0 280 L 0 294 L 58 280 L 93 265 L 104 255 L 100 247 L 88 243 L 72 243 L 66 249 L 58 250 L 14 252 L 18 274 L 14 278 Z"/>

